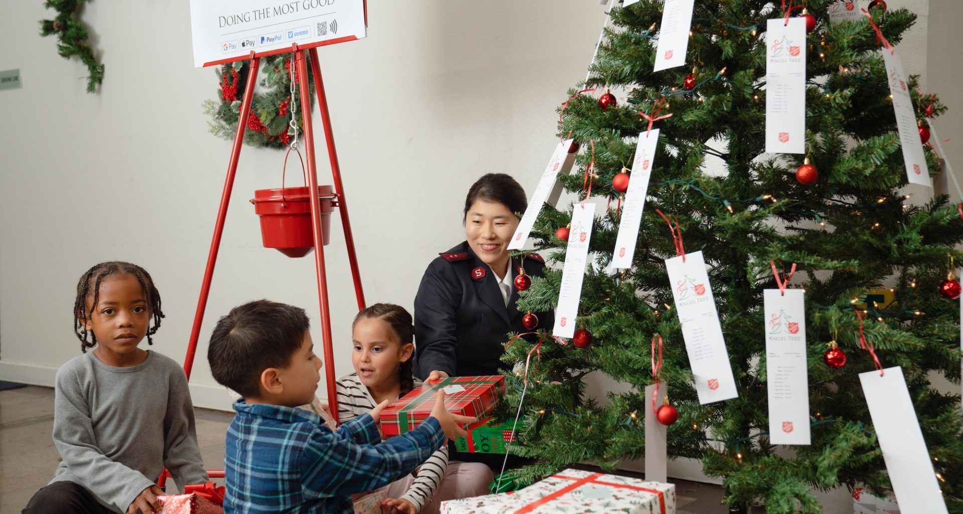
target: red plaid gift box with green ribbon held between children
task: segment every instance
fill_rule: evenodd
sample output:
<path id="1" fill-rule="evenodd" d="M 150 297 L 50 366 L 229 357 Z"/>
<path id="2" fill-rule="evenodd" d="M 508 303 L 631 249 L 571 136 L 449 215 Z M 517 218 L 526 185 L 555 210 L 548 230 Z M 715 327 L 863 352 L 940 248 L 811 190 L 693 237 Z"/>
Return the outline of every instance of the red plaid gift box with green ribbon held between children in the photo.
<path id="1" fill-rule="evenodd" d="M 449 412 L 480 418 L 491 413 L 505 395 L 502 375 L 449 377 L 425 383 L 400 398 L 395 405 L 381 411 L 381 432 L 397 436 L 414 429 L 431 416 L 435 395 L 445 390 L 445 408 Z"/>

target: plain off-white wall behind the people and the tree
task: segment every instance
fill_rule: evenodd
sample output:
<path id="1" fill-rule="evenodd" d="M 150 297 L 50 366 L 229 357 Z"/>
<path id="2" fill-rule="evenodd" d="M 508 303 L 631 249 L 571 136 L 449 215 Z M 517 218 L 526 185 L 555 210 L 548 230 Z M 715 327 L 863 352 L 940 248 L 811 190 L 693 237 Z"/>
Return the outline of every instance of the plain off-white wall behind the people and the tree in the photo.
<path id="1" fill-rule="evenodd" d="M 920 14 L 898 45 L 907 72 L 923 73 L 926 91 L 963 112 L 963 71 L 942 51 L 927 53 L 958 44 L 955 2 L 888 3 Z M 86 68 L 39 38 L 37 20 L 50 16 L 42 5 L 8 4 L 0 47 L 14 50 L 0 54 L 0 69 L 20 68 L 24 87 L 0 92 L 0 379 L 53 384 L 78 354 L 74 284 L 107 259 L 154 276 L 167 314 L 155 348 L 182 361 L 230 147 L 201 114 L 218 88 L 213 70 L 191 67 L 188 2 L 89 4 L 83 19 L 107 67 L 99 95 L 84 93 Z M 319 50 L 369 303 L 411 308 L 429 260 L 462 239 L 461 203 L 475 178 L 507 172 L 532 192 L 555 146 L 555 108 L 585 78 L 603 13 L 595 0 L 369 0 L 369 38 Z M 963 141 L 958 115 L 938 127 L 942 139 Z M 952 155 L 956 145 L 946 147 Z M 191 381 L 199 406 L 229 408 L 204 341 L 231 307 L 261 297 L 303 306 L 321 340 L 313 258 L 262 248 L 247 203 L 254 189 L 277 186 L 282 157 L 242 152 Z M 332 222 L 325 250 L 343 374 L 356 306 L 339 217 Z M 846 511 L 842 496 L 826 512 Z"/>

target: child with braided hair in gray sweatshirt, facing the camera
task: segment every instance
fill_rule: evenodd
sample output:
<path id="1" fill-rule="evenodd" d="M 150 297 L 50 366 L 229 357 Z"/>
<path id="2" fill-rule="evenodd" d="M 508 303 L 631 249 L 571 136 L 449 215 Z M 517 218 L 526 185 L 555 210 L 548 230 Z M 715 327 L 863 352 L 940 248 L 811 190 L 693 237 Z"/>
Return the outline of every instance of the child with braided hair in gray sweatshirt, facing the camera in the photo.
<path id="1" fill-rule="evenodd" d="M 138 347 L 164 316 L 150 275 L 127 262 L 93 266 L 74 316 L 84 354 L 57 371 L 54 400 L 63 460 L 23 512 L 147 514 L 160 508 L 165 467 L 180 487 L 206 482 L 184 370 Z"/>

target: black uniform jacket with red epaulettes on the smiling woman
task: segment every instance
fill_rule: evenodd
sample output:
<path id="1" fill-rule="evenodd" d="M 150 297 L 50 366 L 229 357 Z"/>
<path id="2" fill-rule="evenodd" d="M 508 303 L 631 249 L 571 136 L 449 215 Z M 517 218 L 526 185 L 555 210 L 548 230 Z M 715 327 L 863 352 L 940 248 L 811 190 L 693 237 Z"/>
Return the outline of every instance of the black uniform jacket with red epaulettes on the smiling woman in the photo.
<path id="1" fill-rule="evenodd" d="M 520 264 L 520 258 L 511 259 L 512 281 Z M 544 274 L 545 262 L 536 254 L 526 256 L 524 266 L 528 275 Z M 451 376 L 498 374 L 508 332 L 533 332 L 522 325 L 525 312 L 515 308 L 514 282 L 508 307 L 498 282 L 467 241 L 431 261 L 415 296 L 415 376 L 424 380 L 435 369 Z M 537 328 L 555 325 L 553 312 L 535 314 Z"/>

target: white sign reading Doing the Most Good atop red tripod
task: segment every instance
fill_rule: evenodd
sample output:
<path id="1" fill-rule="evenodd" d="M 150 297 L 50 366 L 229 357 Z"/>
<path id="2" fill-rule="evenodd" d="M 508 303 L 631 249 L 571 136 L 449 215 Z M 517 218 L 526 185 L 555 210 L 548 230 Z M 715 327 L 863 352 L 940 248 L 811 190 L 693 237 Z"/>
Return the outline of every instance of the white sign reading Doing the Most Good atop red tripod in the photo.
<path id="1" fill-rule="evenodd" d="M 360 40 L 367 36 L 365 0 L 191 0 L 191 35 L 195 68 L 294 43 Z"/>

